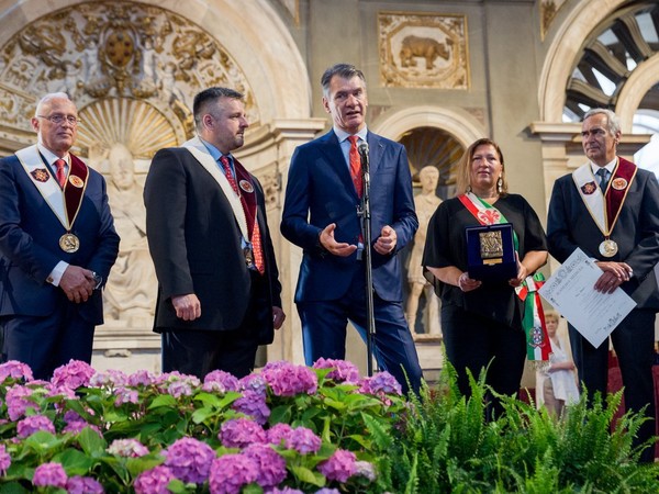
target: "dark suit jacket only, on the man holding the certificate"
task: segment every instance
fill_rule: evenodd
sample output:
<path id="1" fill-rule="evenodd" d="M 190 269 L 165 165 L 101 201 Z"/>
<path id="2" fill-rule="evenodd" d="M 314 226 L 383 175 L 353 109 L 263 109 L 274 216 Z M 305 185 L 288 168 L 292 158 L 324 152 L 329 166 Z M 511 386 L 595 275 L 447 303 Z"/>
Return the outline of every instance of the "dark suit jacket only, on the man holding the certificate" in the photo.
<path id="1" fill-rule="evenodd" d="M 659 310 L 654 271 L 659 261 L 659 183 L 654 173 L 638 169 L 629 187 L 611 235 L 618 252 L 605 258 L 599 250 L 604 235 L 585 207 L 572 175 L 558 179 L 551 192 L 547 220 L 549 252 L 563 262 L 580 247 L 591 258 L 626 262 L 634 276 L 621 288 L 634 299 L 638 308 Z"/>

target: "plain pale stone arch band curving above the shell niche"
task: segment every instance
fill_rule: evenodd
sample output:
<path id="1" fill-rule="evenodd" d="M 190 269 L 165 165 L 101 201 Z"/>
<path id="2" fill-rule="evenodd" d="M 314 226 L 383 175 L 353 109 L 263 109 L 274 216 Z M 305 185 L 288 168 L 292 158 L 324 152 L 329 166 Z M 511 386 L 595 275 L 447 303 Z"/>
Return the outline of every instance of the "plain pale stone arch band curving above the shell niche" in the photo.
<path id="1" fill-rule="evenodd" d="M 38 18 L 80 3 L 86 0 L 15 1 L 0 14 L 0 46 Z M 267 1 L 193 0 L 167 2 L 165 7 L 159 0 L 134 3 L 165 8 L 186 18 L 228 53 L 241 54 L 241 70 L 254 88 L 264 122 L 310 116 L 311 87 L 306 77 L 300 77 L 306 74 L 306 67 L 286 25 Z"/>

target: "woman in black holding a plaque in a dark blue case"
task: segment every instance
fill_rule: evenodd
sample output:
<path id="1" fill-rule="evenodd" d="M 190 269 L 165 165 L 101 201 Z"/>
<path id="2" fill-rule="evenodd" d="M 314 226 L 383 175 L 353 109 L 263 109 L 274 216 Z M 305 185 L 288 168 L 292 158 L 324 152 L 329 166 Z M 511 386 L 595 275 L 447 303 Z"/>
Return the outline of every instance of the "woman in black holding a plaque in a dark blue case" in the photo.
<path id="1" fill-rule="evenodd" d="M 433 274 L 442 299 L 446 355 L 462 394 L 470 392 L 467 371 L 478 378 L 488 369 L 492 390 L 513 395 L 520 390 L 527 351 L 524 301 L 515 289 L 527 288 L 527 278 L 547 261 L 547 239 L 528 202 L 507 193 L 496 143 L 481 138 L 469 146 L 458 166 L 457 194 L 431 218 L 423 254 L 426 274 Z M 476 228 L 468 240 L 470 227 L 482 232 Z M 476 252 L 478 262 L 468 262 L 468 251 Z M 512 263 L 506 260 L 511 258 Z"/>

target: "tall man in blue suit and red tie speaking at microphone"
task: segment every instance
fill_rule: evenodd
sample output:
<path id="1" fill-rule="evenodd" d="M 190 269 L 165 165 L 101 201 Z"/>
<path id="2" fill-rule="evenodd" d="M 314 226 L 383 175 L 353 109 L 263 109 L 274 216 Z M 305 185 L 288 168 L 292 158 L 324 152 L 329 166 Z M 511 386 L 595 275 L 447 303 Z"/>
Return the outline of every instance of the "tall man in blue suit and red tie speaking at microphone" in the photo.
<path id="1" fill-rule="evenodd" d="M 357 154 L 359 143 L 368 143 L 371 229 L 376 238 L 370 246 L 373 353 L 404 390 L 406 379 L 413 390 L 418 390 L 421 367 L 403 314 L 398 256 L 418 227 L 407 155 L 402 145 L 367 131 L 368 99 L 361 70 L 335 65 L 323 75 L 322 86 L 323 104 L 334 128 L 295 149 L 281 222 L 283 236 L 304 251 L 295 291 L 304 357 L 308 364 L 321 357 L 345 358 L 348 319 L 365 337 L 366 276 L 357 215 L 361 186 L 359 171 L 351 170 L 350 155 Z"/>

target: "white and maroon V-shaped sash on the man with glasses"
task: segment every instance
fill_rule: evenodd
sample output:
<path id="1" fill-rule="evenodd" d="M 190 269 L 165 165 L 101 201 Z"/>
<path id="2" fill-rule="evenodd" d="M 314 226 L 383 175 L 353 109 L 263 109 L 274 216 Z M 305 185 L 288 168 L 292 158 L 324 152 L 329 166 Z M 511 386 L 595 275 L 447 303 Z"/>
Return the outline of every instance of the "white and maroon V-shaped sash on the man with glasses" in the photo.
<path id="1" fill-rule="evenodd" d="M 69 153 L 69 172 L 64 189 L 62 189 L 51 168 L 44 162 L 36 145 L 19 149 L 15 155 L 25 173 L 57 216 L 62 226 L 70 232 L 82 205 L 82 198 L 87 189 L 89 177 L 87 165 Z"/>

